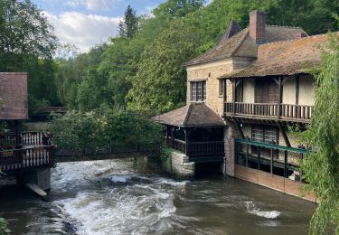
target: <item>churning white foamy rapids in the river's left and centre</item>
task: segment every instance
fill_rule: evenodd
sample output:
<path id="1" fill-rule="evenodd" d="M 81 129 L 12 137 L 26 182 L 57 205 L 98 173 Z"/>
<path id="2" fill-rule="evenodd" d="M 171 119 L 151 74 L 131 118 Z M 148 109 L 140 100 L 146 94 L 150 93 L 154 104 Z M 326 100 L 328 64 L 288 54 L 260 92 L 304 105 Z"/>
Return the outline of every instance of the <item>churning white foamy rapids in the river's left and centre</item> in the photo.
<path id="1" fill-rule="evenodd" d="M 133 174 L 121 170 L 120 164 L 112 164 L 117 169 L 113 175 L 106 174 L 112 171 L 105 162 L 59 165 L 52 175 L 55 188 L 77 192 L 53 202 L 62 219 L 80 235 L 151 234 L 172 228 L 174 190 L 186 182 Z"/>

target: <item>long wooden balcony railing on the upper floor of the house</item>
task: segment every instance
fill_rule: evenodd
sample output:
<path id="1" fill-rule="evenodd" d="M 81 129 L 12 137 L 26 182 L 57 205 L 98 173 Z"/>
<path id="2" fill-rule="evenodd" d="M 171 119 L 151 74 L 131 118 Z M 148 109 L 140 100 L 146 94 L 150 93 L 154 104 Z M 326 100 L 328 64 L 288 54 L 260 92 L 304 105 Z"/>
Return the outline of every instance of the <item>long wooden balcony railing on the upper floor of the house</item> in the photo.
<path id="1" fill-rule="evenodd" d="M 235 118 L 271 119 L 287 122 L 310 122 L 313 106 L 278 103 L 226 102 L 225 116 Z"/>

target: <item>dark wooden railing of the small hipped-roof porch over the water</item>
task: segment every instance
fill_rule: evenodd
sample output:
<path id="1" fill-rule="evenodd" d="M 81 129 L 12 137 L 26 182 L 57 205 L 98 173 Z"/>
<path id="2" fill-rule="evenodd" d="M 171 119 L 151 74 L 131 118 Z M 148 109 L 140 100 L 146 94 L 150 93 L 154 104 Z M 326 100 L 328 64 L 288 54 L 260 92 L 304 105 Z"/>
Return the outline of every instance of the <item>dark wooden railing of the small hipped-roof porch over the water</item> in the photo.
<path id="1" fill-rule="evenodd" d="M 223 141 L 189 142 L 186 144 L 183 140 L 174 139 L 172 141 L 172 138 L 168 137 L 167 146 L 171 146 L 188 156 L 224 155 Z"/>

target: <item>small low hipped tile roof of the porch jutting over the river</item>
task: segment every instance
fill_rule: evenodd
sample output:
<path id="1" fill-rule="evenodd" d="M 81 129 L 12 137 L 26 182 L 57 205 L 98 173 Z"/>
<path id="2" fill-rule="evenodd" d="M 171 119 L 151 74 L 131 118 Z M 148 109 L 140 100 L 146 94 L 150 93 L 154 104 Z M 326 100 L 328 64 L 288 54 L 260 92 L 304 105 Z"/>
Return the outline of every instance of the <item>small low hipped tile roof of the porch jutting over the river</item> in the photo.
<path id="1" fill-rule="evenodd" d="M 176 127 L 224 126 L 222 118 L 205 103 L 191 103 L 152 119 Z"/>

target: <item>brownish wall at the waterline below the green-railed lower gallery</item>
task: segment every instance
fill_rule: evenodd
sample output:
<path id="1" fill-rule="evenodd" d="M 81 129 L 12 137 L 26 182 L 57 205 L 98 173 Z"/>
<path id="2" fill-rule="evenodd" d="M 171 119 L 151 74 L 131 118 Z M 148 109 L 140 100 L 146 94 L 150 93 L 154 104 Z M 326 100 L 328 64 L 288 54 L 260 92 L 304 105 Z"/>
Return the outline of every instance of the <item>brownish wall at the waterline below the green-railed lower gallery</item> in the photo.
<path id="1" fill-rule="evenodd" d="M 236 165 L 235 177 L 251 183 L 257 183 L 282 193 L 301 197 L 311 202 L 316 202 L 316 198 L 313 193 L 303 193 L 302 188 L 305 186 L 305 183 L 292 181 L 282 176 L 269 174 L 240 165 Z"/>

